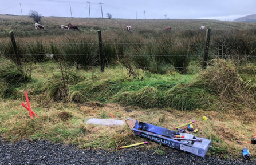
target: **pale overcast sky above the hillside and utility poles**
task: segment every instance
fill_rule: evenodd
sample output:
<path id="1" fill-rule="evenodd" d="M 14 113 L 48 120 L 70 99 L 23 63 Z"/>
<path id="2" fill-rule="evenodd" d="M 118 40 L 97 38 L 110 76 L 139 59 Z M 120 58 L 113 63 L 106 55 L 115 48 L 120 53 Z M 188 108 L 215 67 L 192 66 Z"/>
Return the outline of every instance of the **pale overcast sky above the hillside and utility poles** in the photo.
<path id="1" fill-rule="evenodd" d="M 36 10 L 43 16 L 89 17 L 88 0 L 0 0 L 0 14 L 27 15 Z M 236 18 L 256 14 L 256 0 L 90 0 L 91 17 L 101 17 L 99 3 L 103 3 L 103 17 L 144 19 L 220 19 L 233 21 Z M 19 5 L 21 3 L 21 7 Z"/>

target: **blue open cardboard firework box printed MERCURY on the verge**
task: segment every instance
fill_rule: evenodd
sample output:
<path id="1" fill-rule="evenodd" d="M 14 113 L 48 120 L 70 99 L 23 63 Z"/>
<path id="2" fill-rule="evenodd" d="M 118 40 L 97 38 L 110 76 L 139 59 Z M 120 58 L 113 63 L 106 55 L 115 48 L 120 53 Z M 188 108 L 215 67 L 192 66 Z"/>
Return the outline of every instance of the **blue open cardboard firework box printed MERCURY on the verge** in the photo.
<path id="1" fill-rule="evenodd" d="M 163 144 L 171 148 L 175 148 L 180 151 L 190 152 L 191 154 L 204 157 L 211 146 L 211 140 L 202 139 L 202 142 L 191 142 L 185 140 L 174 140 L 174 135 L 183 135 L 186 139 L 193 139 L 192 134 L 182 134 L 176 131 L 168 130 L 166 128 L 154 126 L 152 124 L 138 122 L 132 119 L 126 120 L 126 123 L 134 132 L 135 135 L 141 138 L 152 140 L 156 143 Z"/>

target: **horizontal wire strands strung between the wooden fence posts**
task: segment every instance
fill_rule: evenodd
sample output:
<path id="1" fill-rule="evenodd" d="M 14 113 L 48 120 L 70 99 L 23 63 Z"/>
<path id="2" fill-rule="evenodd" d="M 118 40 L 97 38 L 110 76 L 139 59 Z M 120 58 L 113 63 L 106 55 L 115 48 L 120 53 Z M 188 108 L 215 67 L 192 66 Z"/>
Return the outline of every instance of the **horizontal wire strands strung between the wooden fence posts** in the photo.
<path id="1" fill-rule="evenodd" d="M 226 29 L 218 29 L 218 30 L 227 30 L 227 29 L 234 29 L 234 28 L 226 28 Z M 249 28 L 247 28 L 249 29 Z M 256 29 L 256 28 L 250 28 L 250 29 Z M 159 30 L 159 29 L 157 29 Z M 199 29 L 172 29 L 172 30 L 199 30 Z M 125 30 L 103 30 L 103 31 L 125 31 Z M 156 31 L 156 30 L 135 30 L 135 31 Z M 15 31 L 15 33 L 53 33 L 53 31 Z M 69 31 L 65 31 L 68 33 Z M 74 31 L 72 31 L 74 32 Z M 76 31 L 77 32 L 77 31 Z M 79 33 L 84 32 L 84 31 L 79 31 Z M 5 33 L 5 32 L 1 32 Z M 144 43 L 109 43 L 109 42 L 102 42 L 103 45 L 202 45 L 204 46 L 204 49 L 206 47 L 206 42 L 144 42 Z M 0 43 L 0 45 L 9 45 L 10 43 Z M 256 41 L 250 41 L 250 42 L 210 42 L 208 41 L 209 45 L 255 45 Z M 15 45 L 99 45 L 99 43 L 15 43 Z M 239 46 L 238 46 L 239 47 Z M 256 48 L 254 49 L 256 50 Z M 205 51 L 205 50 L 204 50 Z M 48 58 L 51 57 L 96 57 L 100 59 L 99 54 L 66 54 L 66 53 L 60 53 L 60 54 L 52 54 L 52 53 L 45 53 L 45 52 L 37 52 L 37 53 L 14 53 L 15 55 L 21 55 L 21 56 L 45 56 Z M 0 55 L 14 55 L 11 53 L 1 53 Z M 208 54 L 208 53 L 207 53 Z M 204 53 L 200 54 L 104 54 L 104 57 L 200 57 L 201 59 L 204 58 L 203 55 Z M 229 55 L 228 53 L 210 53 L 208 54 L 208 57 L 222 57 L 222 58 L 254 58 L 256 57 L 255 54 L 235 54 L 235 55 Z M 98 59 L 98 60 L 99 60 Z M 153 60 L 153 59 L 152 59 Z M 204 59 L 203 59 L 204 60 Z M 104 59 L 105 61 L 105 59 Z M 76 62 L 74 62 L 76 63 Z M 82 63 L 81 61 L 79 63 Z M 102 65 L 99 65 L 100 62 L 92 63 L 91 65 L 83 65 L 83 64 L 78 64 L 78 65 L 65 65 L 65 67 L 103 67 Z M 43 66 L 43 65 L 41 65 Z M 44 66 L 49 66 L 49 67 L 60 67 L 59 65 L 44 65 Z M 109 65 L 109 63 L 105 63 L 104 66 L 107 67 L 127 67 L 127 66 L 121 66 L 121 65 Z M 167 66 L 163 64 L 160 64 L 159 66 L 133 66 L 137 69 L 202 69 L 202 67 L 193 67 L 193 66 L 186 66 L 186 67 L 177 67 L 177 66 Z"/>

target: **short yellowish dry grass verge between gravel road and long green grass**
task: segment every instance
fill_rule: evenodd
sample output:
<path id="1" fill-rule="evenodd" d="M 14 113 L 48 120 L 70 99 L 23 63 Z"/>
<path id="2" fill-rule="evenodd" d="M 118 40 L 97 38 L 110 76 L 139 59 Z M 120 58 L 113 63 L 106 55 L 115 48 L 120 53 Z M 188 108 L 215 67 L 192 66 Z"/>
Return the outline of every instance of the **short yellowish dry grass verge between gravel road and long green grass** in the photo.
<path id="1" fill-rule="evenodd" d="M 78 144 L 82 148 L 110 148 L 116 150 L 120 146 L 143 142 L 145 139 L 136 137 L 128 126 L 107 127 L 85 125 L 84 119 L 106 118 L 125 120 L 137 119 L 142 122 L 155 124 L 156 126 L 171 129 L 182 123 L 195 120 L 194 128 L 199 132 L 195 136 L 212 140 L 212 148 L 208 154 L 219 156 L 241 156 L 241 149 L 248 148 L 251 155 L 255 155 L 253 144 L 238 144 L 238 140 L 249 141 L 256 128 L 254 122 L 256 114 L 254 110 L 225 110 L 203 111 L 196 110 L 177 111 L 167 109 L 147 109 L 138 107 L 124 107 L 118 104 L 100 104 L 89 102 L 86 104 L 62 104 L 54 103 L 50 108 L 40 108 L 31 101 L 33 111 L 39 116 L 30 119 L 29 113 L 20 106 L 21 101 L 1 101 L 0 119 L 2 137 L 10 140 L 49 139 L 53 142 Z M 37 107 L 37 108 L 34 108 Z M 127 112 L 127 108 L 132 112 Z M 204 121 L 204 115 L 212 120 Z M 64 120 L 69 118 L 69 120 Z M 159 144 L 149 142 L 140 148 L 153 150 L 170 150 Z"/>

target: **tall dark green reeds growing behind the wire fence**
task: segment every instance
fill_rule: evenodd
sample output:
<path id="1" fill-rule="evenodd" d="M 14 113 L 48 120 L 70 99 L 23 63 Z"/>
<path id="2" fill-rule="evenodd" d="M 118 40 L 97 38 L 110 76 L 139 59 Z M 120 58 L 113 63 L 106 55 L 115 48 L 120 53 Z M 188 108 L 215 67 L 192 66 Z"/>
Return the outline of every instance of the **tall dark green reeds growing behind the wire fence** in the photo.
<path id="1" fill-rule="evenodd" d="M 73 66 L 99 65 L 99 46 L 97 33 L 57 32 L 38 38 L 17 37 L 18 53 L 29 54 L 37 62 L 44 60 L 45 54 L 64 55 L 65 61 Z M 48 34 L 48 33 L 45 33 Z M 254 30 L 212 30 L 210 55 L 236 58 L 237 55 L 256 55 L 256 37 Z M 205 31 L 136 31 L 134 33 L 103 32 L 104 62 L 108 66 L 127 55 L 135 67 L 164 74 L 174 67 L 180 73 L 186 73 L 192 55 L 202 56 Z M 0 45 L 0 53 L 13 58 L 10 41 Z M 23 44 L 25 43 L 25 44 Z M 27 56 L 26 56 L 27 57 Z M 25 58 L 26 58 L 25 57 Z M 33 57 L 33 58 L 31 58 Z M 211 56 L 214 57 L 214 56 Z M 202 59 L 201 59 L 202 60 Z"/>

